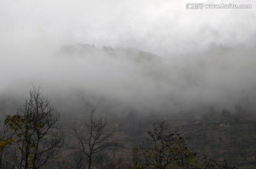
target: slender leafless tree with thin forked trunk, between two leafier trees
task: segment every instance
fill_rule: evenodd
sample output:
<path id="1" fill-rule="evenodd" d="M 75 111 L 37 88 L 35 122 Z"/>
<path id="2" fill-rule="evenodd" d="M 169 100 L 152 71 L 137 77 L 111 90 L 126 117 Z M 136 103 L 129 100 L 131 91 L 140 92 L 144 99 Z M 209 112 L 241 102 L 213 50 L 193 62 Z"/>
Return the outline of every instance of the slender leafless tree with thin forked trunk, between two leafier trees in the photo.
<path id="1" fill-rule="evenodd" d="M 85 126 L 73 126 L 73 133 L 78 140 L 78 150 L 88 160 L 88 169 L 92 166 L 92 157 L 115 143 L 110 141 L 113 132 L 108 128 L 105 119 L 95 117 L 96 107 L 92 107 L 90 120 L 85 121 Z"/>

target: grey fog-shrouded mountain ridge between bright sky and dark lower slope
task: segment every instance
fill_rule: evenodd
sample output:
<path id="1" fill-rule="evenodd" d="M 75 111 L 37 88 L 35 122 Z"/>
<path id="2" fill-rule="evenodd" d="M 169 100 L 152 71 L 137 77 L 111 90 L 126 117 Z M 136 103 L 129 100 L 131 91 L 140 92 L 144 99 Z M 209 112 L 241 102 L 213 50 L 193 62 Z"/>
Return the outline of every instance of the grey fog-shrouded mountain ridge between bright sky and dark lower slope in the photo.
<path id="1" fill-rule="evenodd" d="M 18 65 L 26 73 L 13 79 L 20 72 L 11 72 L 14 81 L 2 87 L 1 104 L 9 97 L 23 102 L 32 84 L 40 84 L 55 107 L 72 114 L 91 104 L 121 116 L 129 109 L 171 114 L 211 105 L 252 111 L 254 53 L 255 48 L 212 45 L 203 53 L 166 57 L 136 48 L 63 45 L 50 57 Z"/>

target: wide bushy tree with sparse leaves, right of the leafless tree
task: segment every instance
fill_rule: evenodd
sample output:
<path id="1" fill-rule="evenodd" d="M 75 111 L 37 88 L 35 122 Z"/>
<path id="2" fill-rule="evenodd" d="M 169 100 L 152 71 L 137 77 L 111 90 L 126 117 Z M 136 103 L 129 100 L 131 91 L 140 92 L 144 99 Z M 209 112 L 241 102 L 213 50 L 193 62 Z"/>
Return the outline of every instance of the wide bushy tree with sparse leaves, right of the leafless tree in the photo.
<path id="1" fill-rule="evenodd" d="M 153 126 L 141 146 L 143 168 L 192 168 L 196 153 L 186 145 L 186 138 L 166 130 L 164 122 Z"/>

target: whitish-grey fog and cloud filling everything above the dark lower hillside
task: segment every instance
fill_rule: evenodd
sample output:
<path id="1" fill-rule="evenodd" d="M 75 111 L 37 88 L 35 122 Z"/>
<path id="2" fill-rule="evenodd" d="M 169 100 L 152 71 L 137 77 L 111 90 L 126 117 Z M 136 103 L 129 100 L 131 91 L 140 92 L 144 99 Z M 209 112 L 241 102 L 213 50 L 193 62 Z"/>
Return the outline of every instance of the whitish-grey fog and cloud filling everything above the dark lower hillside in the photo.
<path id="1" fill-rule="evenodd" d="M 188 10 L 190 1 L 0 3 L 1 100 L 23 101 L 41 85 L 66 112 L 255 105 L 254 1 L 208 10 Z"/>

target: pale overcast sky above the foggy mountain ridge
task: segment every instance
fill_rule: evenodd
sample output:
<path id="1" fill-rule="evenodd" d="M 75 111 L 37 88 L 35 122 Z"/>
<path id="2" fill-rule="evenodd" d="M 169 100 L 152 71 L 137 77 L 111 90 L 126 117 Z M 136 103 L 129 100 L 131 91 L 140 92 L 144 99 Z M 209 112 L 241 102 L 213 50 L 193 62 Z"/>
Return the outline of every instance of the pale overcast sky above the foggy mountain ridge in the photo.
<path id="1" fill-rule="evenodd" d="M 186 9 L 192 2 L 252 4 L 252 9 Z M 0 44 L 5 49 L 90 43 L 166 55 L 255 39 L 252 0 L 0 0 L 0 4 Z"/>

